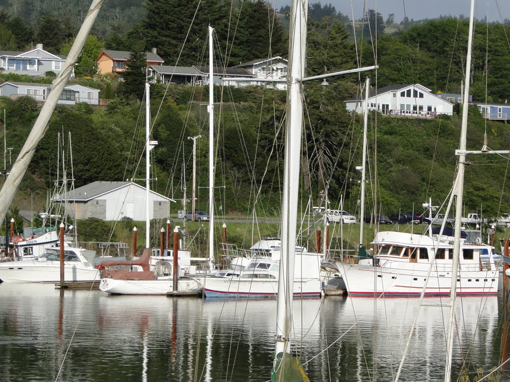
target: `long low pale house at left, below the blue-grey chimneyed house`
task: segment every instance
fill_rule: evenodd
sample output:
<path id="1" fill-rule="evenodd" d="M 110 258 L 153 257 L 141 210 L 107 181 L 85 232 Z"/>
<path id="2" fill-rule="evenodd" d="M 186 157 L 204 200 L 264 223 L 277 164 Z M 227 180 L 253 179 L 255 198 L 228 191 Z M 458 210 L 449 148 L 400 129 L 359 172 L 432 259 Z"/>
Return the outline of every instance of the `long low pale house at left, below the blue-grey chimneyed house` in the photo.
<path id="1" fill-rule="evenodd" d="M 53 85 L 50 84 L 7 81 L 0 85 L 0 96 L 12 99 L 16 99 L 19 96 L 30 96 L 35 98 L 36 101 L 44 102 L 52 91 L 52 87 Z M 64 88 L 58 100 L 58 103 L 66 105 L 74 105 L 80 102 L 86 102 L 91 105 L 99 104 L 99 89 L 82 85 L 68 85 Z"/>

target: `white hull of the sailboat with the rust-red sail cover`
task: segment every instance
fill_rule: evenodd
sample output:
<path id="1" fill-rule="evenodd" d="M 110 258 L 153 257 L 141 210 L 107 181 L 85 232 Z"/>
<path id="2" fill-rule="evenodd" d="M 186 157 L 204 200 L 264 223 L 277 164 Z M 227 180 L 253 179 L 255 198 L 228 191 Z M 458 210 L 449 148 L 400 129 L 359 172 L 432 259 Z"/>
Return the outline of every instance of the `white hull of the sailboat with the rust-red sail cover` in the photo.
<path id="1" fill-rule="evenodd" d="M 173 290 L 171 278 L 153 280 L 115 280 L 101 279 L 99 289 L 110 294 L 151 294 L 166 295 Z M 199 292 L 201 284 L 194 279 L 180 279 L 177 290 L 180 292 Z"/>

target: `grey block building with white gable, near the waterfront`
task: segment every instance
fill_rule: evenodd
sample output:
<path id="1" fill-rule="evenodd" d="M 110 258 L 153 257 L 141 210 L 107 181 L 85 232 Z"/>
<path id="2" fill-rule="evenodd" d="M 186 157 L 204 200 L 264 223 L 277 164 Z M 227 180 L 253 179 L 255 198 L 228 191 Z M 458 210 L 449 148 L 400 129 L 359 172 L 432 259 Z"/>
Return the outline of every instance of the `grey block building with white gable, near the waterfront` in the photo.
<path id="1" fill-rule="evenodd" d="M 74 220 L 97 217 L 120 220 L 131 217 L 145 221 L 146 188 L 133 182 L 92 182 L 58 198 Z M 149 190 L 149 219 L 166 219 L 174 200 Z"/>

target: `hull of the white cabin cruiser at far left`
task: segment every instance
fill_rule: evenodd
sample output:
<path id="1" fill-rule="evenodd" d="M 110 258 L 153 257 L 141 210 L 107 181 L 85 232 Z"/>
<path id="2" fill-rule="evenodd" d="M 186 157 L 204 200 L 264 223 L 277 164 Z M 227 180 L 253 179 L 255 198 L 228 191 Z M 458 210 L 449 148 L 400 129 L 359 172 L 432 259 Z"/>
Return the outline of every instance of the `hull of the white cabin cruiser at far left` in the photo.
<path id="1" fill-rule="evenodd" d="M 83 268 L 82 264 L 66 262 L 65 281 L 99 281 L 97 269 Z M 60 263 L 57 261 L 13 261 L 0 264 L 0 280 L 5 283 L 57 283 L 60 282 Z"/>

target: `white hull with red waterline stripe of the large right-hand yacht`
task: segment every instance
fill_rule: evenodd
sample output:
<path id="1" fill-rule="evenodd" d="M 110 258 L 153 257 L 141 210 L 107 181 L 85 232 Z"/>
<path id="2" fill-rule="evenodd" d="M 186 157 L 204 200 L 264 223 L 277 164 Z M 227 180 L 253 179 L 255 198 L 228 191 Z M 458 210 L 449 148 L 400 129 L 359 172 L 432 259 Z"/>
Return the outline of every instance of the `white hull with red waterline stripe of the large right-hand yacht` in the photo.
<path id="1" fill-rule="evenodd" d="M 360 297 L 419 297 L 425 285 L 428 264 L 401 263 L 370 266 L 337 263 L 349 295 Z M 425 266 L 424 266 L 425 265 Z M 457 275 L 457 295 L 496 295 L 499 272 L 461 270 Z M 451 289 L 451 271 L 432 270 L 425 296 L 447 296 Z"/>

